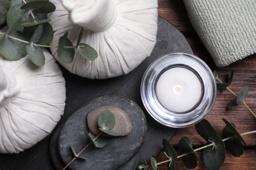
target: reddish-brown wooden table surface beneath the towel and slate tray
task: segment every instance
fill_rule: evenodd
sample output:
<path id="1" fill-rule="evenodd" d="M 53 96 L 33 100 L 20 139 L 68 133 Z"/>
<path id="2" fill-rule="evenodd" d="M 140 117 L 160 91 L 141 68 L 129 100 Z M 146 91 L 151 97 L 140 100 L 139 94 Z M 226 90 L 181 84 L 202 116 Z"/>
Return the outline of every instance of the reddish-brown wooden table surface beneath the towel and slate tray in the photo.
<path id="1" fill-rule="evenodd" d="M 200 41 L 196 31 L 194 31 L 184 3 L 177 0 L 159 0 L 158 14 L 168 20 L 171 24 L 175 25 L 181 31 L 189 42 L 194 54 L 202 58 L 211 69 L 217 69 L 219 76 L 222 80 L 226 80 L 232 70 L 234 70 L 234 81 L 230 85 L 230 89 L 238 93 L 244 86 L 249 86 L 249 95 L 245 103 L 249 105 L 251 110 L 256 112 L 256 58 L 255 55 L 249 56 L 244 60 L 237 61 L 232 65 L 224 68 L 217 68 L 213 59 L 205 49 L 202 41 Z M 234 98 L 232 93 L 227 90 L 224 92 L 217 92 L 217 100 L 211 112 L 209 112 L 206 119 L 212 124 L 213 127 L 221 135 L 225 126 L 222 118 L 226 118 L 233 122 L 240 133 L 256 130 L 256 118 L 245 108 L 240 105 L 236 109 L 226 109 L 226 105 Z M 181 137 L 187 136 L 193 143 L 194 148 L 198 148 L 205 144 L 205 141 L 196 133 L 194 126 L 179 129 L 175 136 L 171 139 L 170 143 L 173 144 L 179 155 L 177 149 Z M 231 154 L 226 153 L 226 160 L 224 161 L 221 169 L 256 169 L 256 133 L 245 135 L 244 140 L 247 146 L 244 147 L 244 154 L 238 158 L 233 157 Z M 196 169 L 206 169 L 203 165 L 202 152 L 197 152 L 202 160 L 202 165 L 198 163 Z M 156 156 L 158 162 L 167 160 L 165 154 L 161 152 Z M 176 169 L 186 169 L 181 159 L 176 161 Z M 167 163 L 159 165 L 159 169 L 167 169 Z"/>

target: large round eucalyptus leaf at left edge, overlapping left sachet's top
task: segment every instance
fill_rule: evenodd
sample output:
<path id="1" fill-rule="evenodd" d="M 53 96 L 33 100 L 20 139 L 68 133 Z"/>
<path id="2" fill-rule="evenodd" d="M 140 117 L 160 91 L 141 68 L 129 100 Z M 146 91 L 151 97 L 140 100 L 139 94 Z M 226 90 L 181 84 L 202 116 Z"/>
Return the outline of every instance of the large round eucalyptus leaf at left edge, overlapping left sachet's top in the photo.
<path id="1" fill-rule="evenodd" d="M 18 31 L 12 31 L 9 35 L 26 41 L 26 37 Z M 24 58 L 27 54 L 26 44 L 9 37 L 3 37 L 3 40 L 0 42 L 0 53 L 4 58 L 12 61 Z"/>

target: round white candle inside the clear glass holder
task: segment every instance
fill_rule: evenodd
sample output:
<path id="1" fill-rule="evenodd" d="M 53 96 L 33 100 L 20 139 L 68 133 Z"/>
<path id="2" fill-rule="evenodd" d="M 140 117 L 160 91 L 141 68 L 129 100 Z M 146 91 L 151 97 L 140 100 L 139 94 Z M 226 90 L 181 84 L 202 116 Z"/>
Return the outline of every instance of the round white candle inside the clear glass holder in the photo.
<path id="1" fill-rule="evenodd" d="M 156 96 L 165 109 L 186 112 L 200 101 L 202 85 L 198 76 L 189 69 L 173 67 L 158 79 Z"/>

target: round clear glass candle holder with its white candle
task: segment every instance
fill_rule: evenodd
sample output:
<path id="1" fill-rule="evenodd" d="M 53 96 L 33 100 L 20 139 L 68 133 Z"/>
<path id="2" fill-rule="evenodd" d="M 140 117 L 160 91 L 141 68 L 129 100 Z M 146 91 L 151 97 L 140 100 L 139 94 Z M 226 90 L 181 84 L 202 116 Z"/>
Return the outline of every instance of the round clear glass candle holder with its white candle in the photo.
<path id="1" fill-rule="evenodd" d="M 213 107 L 216 91 L 207 64 L 183 53 L 156 59 L 146 69 L 140 85 L 142 102 L 152 118 L 175 128 L 200 122 Z"/>

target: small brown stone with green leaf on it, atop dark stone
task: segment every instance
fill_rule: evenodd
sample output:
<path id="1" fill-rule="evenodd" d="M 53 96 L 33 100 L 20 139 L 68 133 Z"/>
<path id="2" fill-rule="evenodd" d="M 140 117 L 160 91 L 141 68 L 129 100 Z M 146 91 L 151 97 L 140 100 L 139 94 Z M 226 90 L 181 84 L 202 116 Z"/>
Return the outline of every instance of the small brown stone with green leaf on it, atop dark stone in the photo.
<path id="1" fill-rule="evenodd" d="M 109 110 L 116 118 L 116 124 L 112 131 L 120 134 L 121 136 L 126 136 L 131 133 L 131 122 L 127 114 L 123 110 L 112 106 L 98 107 L 89 112 L 87 115 L 87 126 L 91 133 L 94 135 L 98 135 L 100 133 L 100 130 L 98 129 L 98 117 L 104 110 Z"/>

